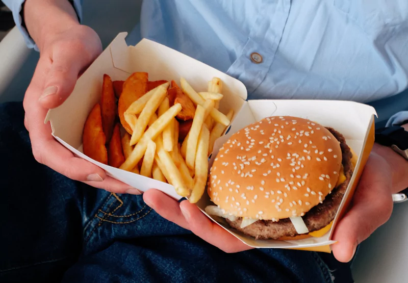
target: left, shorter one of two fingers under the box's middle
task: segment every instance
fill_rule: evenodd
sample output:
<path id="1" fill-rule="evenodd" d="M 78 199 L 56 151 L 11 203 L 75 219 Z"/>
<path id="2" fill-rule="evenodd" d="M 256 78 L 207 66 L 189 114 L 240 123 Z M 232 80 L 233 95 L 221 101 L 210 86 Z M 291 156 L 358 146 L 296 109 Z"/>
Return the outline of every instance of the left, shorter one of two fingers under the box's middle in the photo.
<path id="1" fill-rule="evenodd" d="M 179 202 L 173 198 L 159 190 L 150 189 L 143 193 L 143 200 L 163 218 L 189 229 L 189 225 L 180 210 Z"/>

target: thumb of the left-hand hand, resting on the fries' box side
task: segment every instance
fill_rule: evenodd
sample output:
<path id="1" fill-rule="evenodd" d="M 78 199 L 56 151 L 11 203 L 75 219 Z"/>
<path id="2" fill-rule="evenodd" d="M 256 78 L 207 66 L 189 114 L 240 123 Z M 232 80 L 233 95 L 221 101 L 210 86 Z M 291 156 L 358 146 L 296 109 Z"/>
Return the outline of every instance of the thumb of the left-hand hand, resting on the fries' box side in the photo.
<path id="1" fill-rule="evenodd" d="M 71 94 L 80 72 L 91 63 L 81 57 L 72 50 L 63 56 L 53 58 L 39 98 L 42 107 L 47 109 L 58 107 Z"/>

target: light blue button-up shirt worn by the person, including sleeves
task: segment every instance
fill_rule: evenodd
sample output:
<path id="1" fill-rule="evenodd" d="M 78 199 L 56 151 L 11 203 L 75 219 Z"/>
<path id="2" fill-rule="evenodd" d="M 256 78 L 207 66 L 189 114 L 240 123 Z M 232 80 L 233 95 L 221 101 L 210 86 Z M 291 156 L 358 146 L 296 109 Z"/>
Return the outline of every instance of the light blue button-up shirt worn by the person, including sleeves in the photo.
<path id="1" fill-rule="evenodd" d="M 5 1 L 35 47 L 22 2 Z M 407 0 L 146 0 L 127 41 L 141 38 L 239 79 L 248 99 L 353 100 L 378 125 L 408 120 Z"/>

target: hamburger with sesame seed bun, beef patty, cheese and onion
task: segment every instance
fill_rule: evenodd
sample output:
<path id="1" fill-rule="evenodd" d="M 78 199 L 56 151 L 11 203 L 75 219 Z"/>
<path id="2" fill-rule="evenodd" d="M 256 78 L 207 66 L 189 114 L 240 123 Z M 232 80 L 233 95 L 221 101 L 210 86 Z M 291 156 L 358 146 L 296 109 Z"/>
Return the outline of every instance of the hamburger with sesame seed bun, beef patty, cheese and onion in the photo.
<path id="1" fill-rule="evenodd" d="M 343 135 L 333 128 L 298 117 L 264 118 L 220 148 L 207 189 L 215 205 L 206 212 L 256 239 L 325 233 L 355 160 Z"/>

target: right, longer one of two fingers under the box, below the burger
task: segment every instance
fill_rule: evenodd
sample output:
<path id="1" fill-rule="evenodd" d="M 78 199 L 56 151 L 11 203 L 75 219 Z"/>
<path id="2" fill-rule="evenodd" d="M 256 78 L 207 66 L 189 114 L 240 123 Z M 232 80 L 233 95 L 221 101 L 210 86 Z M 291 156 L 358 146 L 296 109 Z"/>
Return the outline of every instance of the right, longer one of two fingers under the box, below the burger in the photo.
<path id="1" fill-rule="evenodd" d="M 187 220 L 190 230 L 206 242 L 225 252 L 238 252 L 252 249 L 252 247 L 245 245 L 239 239 L 225 231 L 224 228 L 212 222 L 197 208 L 197 205 L 183 201 L 180 203 L 180 208 Z"/>

